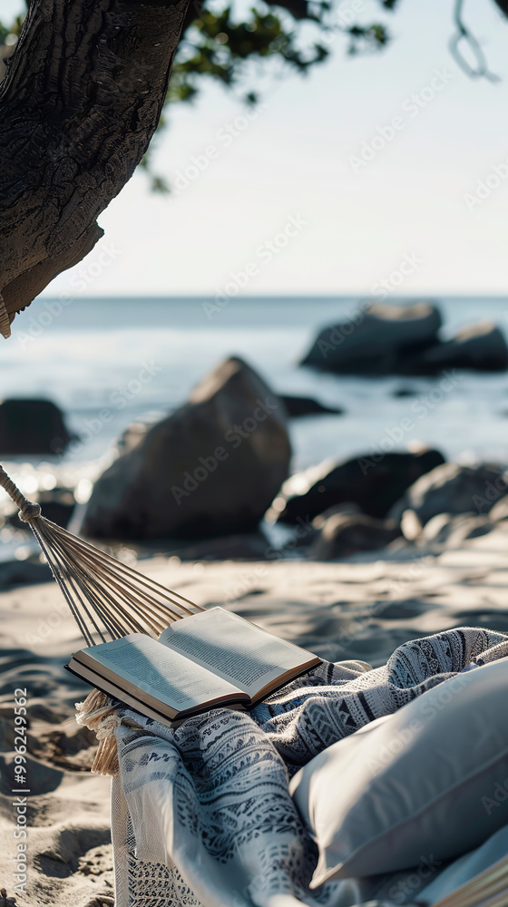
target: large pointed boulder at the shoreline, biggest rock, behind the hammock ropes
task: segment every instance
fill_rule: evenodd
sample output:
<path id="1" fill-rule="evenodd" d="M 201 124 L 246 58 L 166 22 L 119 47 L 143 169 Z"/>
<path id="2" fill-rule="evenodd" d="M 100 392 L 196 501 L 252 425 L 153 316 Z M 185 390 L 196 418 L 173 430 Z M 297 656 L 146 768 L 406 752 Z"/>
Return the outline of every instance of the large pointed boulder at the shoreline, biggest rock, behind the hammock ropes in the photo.
<path id="1" fill-rule="evenodd" d="M 227 359 L 103 473 L 83 532 L 138 539 L 252 532 L 288 475 L 290 453 L 278 396 L 241 359 Z"/>

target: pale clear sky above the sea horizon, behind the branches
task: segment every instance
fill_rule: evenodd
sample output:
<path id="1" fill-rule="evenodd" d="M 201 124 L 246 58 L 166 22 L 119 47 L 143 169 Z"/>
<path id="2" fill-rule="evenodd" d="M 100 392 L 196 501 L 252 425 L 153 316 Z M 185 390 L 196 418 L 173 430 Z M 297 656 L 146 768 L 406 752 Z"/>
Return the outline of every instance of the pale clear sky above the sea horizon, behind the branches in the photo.
<path id="1" fill-rule="evenodd" d="M 17 0 L 0 3 L 6 18 Z M 307 77 L 265 74 L 251 121 L 211 85 L 175 106 L 153 156 L 171 197 L 136 173 L 99 218 L 104 239 L 45 295 L 508 293 L 508 20 L 493 0 L 464 4 L 500 76 L 471 79 L 449 53 L 453 8 L 380 15 L 365 0 L 386 50 L 347 57 L 337 36 Z"/>

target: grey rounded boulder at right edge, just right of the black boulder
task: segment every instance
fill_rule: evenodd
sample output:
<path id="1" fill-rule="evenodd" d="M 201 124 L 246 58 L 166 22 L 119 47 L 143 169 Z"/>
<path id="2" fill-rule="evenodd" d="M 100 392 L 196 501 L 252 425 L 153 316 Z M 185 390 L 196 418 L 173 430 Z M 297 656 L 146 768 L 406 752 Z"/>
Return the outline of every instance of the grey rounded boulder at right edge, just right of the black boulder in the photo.
<path id="1" fill-rule="evenodd" d="M 502 466 L 444 463 L 422 475 L 388 515 L 398 522 L 405 510 L 414 510 L 423 526 L 437 513 L 482 515 L 508 493 L 506 478 Z"/>

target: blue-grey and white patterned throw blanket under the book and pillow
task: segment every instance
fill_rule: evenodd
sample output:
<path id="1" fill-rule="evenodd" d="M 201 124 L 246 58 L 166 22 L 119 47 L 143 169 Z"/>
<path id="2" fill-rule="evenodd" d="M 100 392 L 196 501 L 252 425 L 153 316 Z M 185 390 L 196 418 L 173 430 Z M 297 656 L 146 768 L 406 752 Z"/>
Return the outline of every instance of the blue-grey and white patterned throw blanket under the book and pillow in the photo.
<path id="1" fill-rule="evenodd" d="M 412 902 L 393 875 L 309 892 L 316 846 L 288 777 L 457 672 L 506 656 L 508 636 L 455 629 L 405 643 L 383 668 L 324 662 L 249 714 L 219 708 L 170 728 L 119 708 L 117 907 L 352 907 L 392 903 L 394 891 L 396 903 Z"/>

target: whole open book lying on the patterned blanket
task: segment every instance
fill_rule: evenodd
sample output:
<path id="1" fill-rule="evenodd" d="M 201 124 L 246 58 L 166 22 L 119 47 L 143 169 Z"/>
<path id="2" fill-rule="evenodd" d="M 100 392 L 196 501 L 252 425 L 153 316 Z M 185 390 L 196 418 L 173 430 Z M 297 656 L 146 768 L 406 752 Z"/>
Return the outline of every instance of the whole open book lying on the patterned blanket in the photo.
<path id="1" fill-rule="evenodd" d="M 65 667 L 167 723 L 218 706 L 249 708 L 319 662 L 249 620 L 211 608 L 175 620 L 159 639 L 131 633 L 80 649 Z"/>

